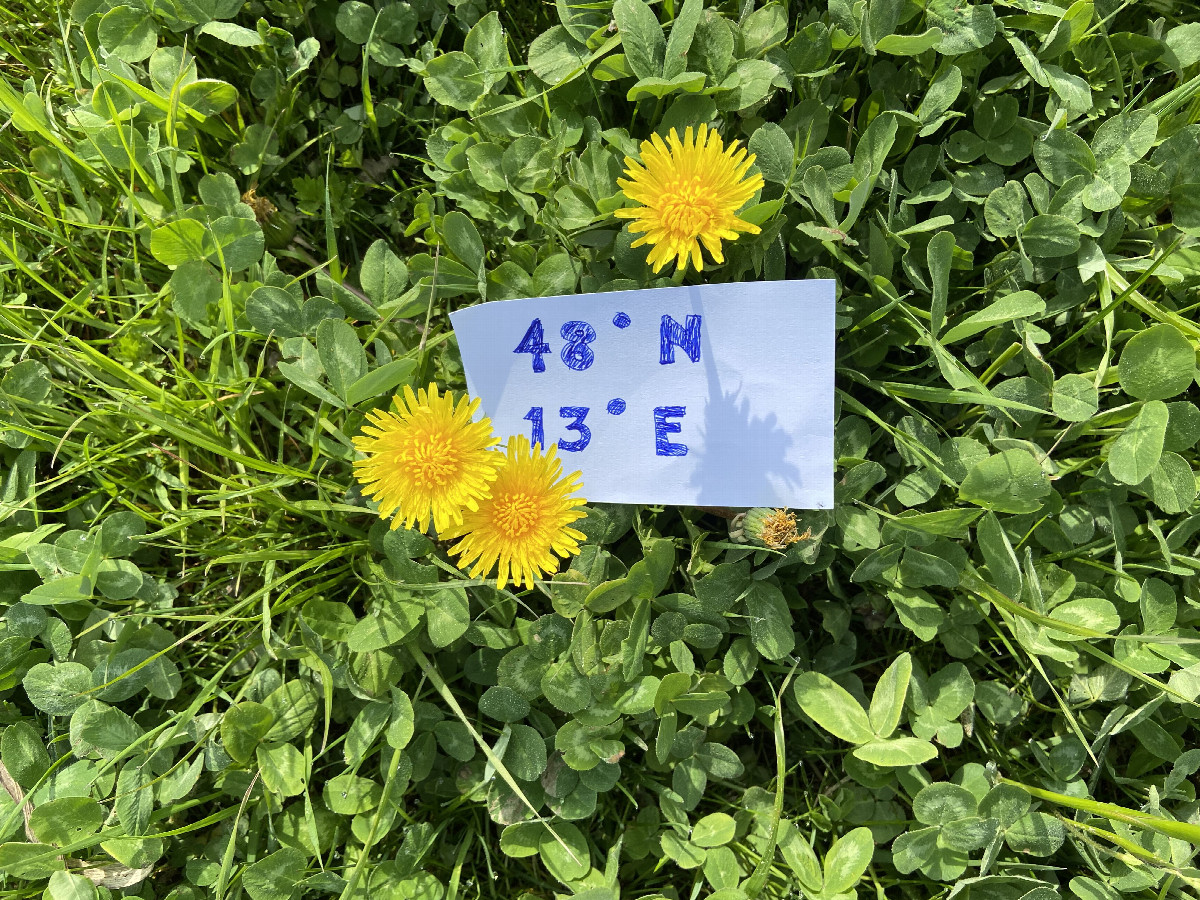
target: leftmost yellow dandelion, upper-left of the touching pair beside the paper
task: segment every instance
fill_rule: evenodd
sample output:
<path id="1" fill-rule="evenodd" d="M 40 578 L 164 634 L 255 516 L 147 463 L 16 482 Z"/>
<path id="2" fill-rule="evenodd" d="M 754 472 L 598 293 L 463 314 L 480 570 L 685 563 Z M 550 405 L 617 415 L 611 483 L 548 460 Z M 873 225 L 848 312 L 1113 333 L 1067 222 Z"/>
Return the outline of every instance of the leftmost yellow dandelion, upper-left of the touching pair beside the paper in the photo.
<path id="1" fill-rule="evenodd" d="M 479 400 L 438 395 L 431 384 L 392 401 L 395 412 L 374 409 L 354 438 L 366 454 L 354 463 L 364 493 L 379 503 L 379 515 L 395 514 L 391 527 L 443 532 L 462 521 L 464 511 L 479 508 L 496 479 L 502 457 L 488 448 L 499 443 L 486 416 L 472 421 Z"/>

